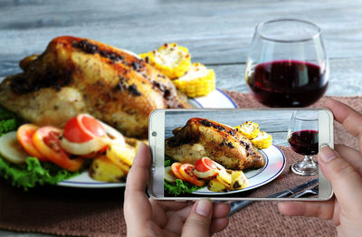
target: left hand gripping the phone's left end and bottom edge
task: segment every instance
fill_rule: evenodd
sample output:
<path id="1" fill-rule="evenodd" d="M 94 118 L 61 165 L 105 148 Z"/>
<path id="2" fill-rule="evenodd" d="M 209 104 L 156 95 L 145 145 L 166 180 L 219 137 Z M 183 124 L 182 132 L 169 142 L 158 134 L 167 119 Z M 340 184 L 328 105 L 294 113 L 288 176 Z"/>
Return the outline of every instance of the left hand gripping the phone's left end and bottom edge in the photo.
<path id="1" fill-rule="evenodd" d="M 227 226 L 228 204 L 157 201 L 145 194 L 151 167 L 149 148 L 142 144 L 129 170 L 124 214 L 129 236 L 208 236 Z M 185 221 L 186 220 L 186 221 Z"/>

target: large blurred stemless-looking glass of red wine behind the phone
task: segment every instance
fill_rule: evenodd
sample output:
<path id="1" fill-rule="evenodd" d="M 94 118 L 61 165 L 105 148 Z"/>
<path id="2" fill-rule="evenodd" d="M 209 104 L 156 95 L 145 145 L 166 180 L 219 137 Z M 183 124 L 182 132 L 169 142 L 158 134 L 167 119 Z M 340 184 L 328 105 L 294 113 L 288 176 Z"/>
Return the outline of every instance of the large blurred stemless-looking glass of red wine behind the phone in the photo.
<path id="1" fill-rule="evenodd" d="M 245 80 L 252 96 L 270 107 L 304 107 L 319 100 L 329 81 L 320 28 L 297 19 L 258 24 Z"/>

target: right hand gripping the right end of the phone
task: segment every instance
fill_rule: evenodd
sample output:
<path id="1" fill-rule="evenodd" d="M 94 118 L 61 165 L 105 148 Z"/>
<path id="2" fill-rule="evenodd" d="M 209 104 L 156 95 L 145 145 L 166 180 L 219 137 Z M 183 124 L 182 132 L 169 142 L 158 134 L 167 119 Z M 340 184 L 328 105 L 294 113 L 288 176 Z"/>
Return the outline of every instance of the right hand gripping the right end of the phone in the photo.
<path id="1" fill-rule="evenodd" d="M 286 215 L 314 216 L 333 220 L 338 234 L 359 236 L 362 232 L 362 115 L 336 100 L 328 100 L 335 119 L 359 139 L 359 151 L 336 145 L 319 150 L 319 167 L 331 182 L 335 197 L 326 202 L 281 203 Z"/>

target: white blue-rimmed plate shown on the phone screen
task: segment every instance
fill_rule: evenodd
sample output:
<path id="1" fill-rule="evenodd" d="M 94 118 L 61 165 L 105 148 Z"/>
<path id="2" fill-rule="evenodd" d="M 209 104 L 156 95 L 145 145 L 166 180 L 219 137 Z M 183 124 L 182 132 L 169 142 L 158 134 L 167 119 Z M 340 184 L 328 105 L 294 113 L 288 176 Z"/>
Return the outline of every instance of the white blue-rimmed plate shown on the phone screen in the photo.
<path id="1" fill-rule="evenodd" d="M 262 156 L 265 160 L 265 166 L 259 169 L 252 169 L 244 173 L 246 177 L 249 179 L 249 186 L 240 190 L 229 191 L 227 193 L 214 193 L 209 191 L 207 187 L 204 187 L 202 189 L 195 191 L 193 194 L 205 194 L 205 195 L 235 194 L 268 184 L 278 175 L 281 175 L 281 172 L 285 167 L 285 162 L 286 162 L 285 156 L 282 153 L 282 151 L 274 145 L 259 151 L 262 153 Z"/>

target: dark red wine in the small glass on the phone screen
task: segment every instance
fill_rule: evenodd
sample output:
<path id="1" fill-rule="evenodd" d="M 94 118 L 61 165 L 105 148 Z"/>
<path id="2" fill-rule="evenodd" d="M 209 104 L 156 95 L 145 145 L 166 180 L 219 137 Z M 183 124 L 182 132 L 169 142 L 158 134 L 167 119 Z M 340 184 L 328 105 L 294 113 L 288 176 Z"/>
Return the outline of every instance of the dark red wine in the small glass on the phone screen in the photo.
<path id="1" fill-rule="evenodd" d="M 288 138 L 291 148 L 300 155 L 316 155 L 318 154 L 318 131 L 301 130 L 291 134 Z"/>

